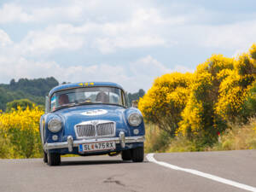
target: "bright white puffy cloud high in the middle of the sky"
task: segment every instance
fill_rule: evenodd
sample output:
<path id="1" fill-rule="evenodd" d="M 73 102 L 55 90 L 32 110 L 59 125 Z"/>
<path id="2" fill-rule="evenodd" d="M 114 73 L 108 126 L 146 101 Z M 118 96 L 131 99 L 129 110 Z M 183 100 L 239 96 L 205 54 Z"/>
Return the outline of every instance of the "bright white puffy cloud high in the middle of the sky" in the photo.
<path id="1" fill-rule="evenodd" d="M 184 22 L 183 17 L 160 16 L 157 9 L 138 9 L 126 22 L 105 23 L 99 26 L 102 37 L 96 38 L 95 46 L 103 53 L 113 53 L 117 49 L 143 48 L 175 44 L 166 41 L 159 30 Z"/>

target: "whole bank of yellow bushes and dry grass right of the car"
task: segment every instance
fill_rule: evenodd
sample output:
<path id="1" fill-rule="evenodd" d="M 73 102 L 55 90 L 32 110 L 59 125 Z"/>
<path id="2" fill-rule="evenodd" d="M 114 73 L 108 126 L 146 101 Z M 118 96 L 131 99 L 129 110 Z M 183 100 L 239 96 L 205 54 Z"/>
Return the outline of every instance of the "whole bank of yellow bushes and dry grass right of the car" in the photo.
<path id="1" fill-rule="evenodd" d="M 256 148 L 256 44 L 236 58 L 212 55 L 195 73 L 155 79 L 138 108 L 147 152 Z"/>

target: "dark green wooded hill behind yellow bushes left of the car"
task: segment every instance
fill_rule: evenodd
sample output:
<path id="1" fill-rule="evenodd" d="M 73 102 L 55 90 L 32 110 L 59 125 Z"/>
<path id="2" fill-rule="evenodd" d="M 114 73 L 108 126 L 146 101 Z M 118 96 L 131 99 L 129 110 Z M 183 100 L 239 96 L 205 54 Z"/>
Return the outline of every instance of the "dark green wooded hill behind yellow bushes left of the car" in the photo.
<path id="1" fill-rule="evenodd" d="M 0 84 L 0 109 L 6 108 L 7 102 L 29 99 L 38 105 L 44 105 L 46 96 L 59 82 L 55 78 L 46 79 L 12 79 L 9 84 Z"/>

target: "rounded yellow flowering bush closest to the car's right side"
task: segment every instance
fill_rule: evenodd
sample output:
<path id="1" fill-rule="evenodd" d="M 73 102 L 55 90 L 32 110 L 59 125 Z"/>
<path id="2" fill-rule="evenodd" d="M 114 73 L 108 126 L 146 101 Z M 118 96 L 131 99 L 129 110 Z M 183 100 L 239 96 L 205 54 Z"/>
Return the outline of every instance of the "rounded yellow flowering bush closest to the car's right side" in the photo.
<path id="1" fill-rule="evenodd" d="M 191 80 L 191 73 L 171 73 L 155 79 L 138 103 L 144 118 L 174 136 L 188 100 Z"/>

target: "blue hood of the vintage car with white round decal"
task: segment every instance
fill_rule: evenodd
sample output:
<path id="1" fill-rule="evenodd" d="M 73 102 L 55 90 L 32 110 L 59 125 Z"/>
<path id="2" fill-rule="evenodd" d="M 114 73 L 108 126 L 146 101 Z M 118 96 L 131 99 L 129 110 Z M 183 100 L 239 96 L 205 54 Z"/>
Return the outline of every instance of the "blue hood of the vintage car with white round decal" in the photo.
<path id="1" fill-rule="evenodd" d="M 119 129 L 125 129 L 126 121 L 124 117 L 125 108 L 114 105 L 81 105 L 71 108 L 63 108 L 55 112 L 64 122 L 64 135 L 75 137 L 74 125 L 90 120 L 110 120 L 116 122 L 118 135 Z"/>

